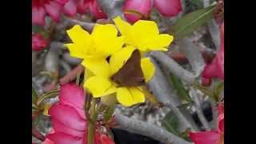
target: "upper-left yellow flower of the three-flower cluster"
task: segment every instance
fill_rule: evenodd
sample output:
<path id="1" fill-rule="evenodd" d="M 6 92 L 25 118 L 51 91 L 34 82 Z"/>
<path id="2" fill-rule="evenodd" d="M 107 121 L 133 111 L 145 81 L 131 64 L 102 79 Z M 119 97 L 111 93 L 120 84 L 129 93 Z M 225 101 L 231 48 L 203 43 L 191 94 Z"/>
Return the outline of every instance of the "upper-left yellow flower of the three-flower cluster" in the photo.
<path id="1" fill-rule="evenodd" d="M 122 49 L 124 37 L 118 37 L 118 30 L 112 24 L 96 24 L 89 34 L 81 26 L 67 30 L 73 43 L 66 44 L 70 56 L 82 58 L 82 65 L 95 75 L 108 76 L 110 71 L 106 58 Z M 102 73 L 104 71 L 104 73 Z"/>

